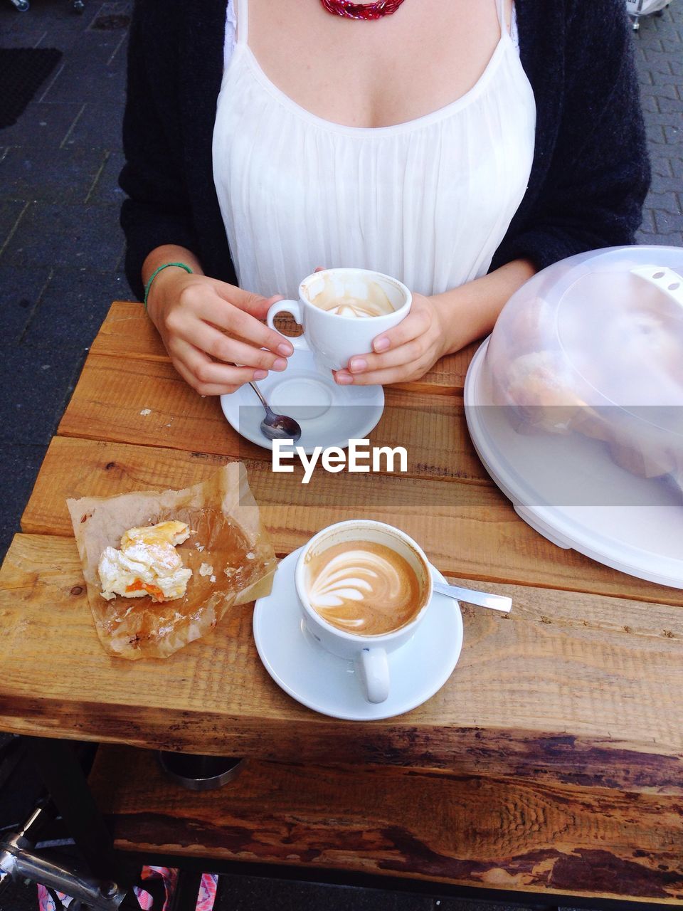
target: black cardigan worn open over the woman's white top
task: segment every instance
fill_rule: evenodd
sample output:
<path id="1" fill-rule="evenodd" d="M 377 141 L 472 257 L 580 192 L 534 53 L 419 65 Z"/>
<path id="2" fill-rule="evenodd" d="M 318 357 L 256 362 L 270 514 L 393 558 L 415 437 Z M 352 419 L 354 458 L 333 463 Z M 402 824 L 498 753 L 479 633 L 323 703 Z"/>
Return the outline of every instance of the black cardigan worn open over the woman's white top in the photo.
<path id="1" fill-rule="evenodd" d="M 624 0 L 516 0 L 515 8 L 535 94 L 535 156 L 491 269 L 519 257 L 541 269 L 632 243 L 649 165 Z M 211 162 L 225 16 L 226 0 L 136 0 L 120 185 L 127 278 L 140 299 L 142 263 L 165 243 L 237 283 Z"/>

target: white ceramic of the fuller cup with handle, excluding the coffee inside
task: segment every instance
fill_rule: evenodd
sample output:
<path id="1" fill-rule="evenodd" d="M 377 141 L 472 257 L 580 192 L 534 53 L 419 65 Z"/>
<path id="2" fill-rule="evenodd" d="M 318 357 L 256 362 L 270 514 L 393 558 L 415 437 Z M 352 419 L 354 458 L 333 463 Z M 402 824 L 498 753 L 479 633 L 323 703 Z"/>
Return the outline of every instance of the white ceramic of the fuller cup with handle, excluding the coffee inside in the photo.
<path id="1" fill-rule="evenodd" d="M 359 635 L 332 626 L 312 607 L 308 569 L 311 558 L 345 541 L 369 541 L 391 548 L 408 562 L 419 584 L 417 612 L 404 626 L 377 635 Z M 422 623 L 432 599 L 432 573 L 423 549 L 399 528 L 372 519 L 351 519 L 323 528 L 302 549 L 294 571 L 297 595 L 306 629 L 331 654 L 354 661 L 365 698 L 383 702 L 389 696 L 390 674 L 387 655 L 408 643 Z"/>

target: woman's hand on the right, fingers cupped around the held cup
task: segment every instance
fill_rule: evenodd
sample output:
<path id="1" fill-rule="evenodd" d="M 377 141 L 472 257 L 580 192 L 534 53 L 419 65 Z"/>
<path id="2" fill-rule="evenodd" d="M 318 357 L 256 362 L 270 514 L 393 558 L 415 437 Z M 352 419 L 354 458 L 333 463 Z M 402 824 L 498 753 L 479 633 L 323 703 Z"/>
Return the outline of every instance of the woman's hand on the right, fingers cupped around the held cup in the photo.
<path id="1" fill-rule="evenodd" d="M 354 354 L 336 371 L 340 385 L 386 385 L 418 380 L 449 350 L 442 311 L 433 298 L 413 294 L 406 318 L 372 342 L 371 354 Z"/>

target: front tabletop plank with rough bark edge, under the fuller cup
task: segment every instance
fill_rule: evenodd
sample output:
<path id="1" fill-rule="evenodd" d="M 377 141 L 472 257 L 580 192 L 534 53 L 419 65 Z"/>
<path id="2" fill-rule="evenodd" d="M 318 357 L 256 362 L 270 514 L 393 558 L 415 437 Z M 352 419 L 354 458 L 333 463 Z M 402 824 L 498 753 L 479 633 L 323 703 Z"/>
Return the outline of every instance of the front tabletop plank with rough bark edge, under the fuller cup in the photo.
<path id="1" fill-rule="evenodd" d="M 250 605 L 168 660 L 109 657 L 74 541 L 18 535 L 0 574 L 0 730 L 683 793 L 683 612 L 507 590 L 509 616 L 464 607 L 461 660 L 432 699 L 398 718 L 340 722 L 270 680 Z"/>

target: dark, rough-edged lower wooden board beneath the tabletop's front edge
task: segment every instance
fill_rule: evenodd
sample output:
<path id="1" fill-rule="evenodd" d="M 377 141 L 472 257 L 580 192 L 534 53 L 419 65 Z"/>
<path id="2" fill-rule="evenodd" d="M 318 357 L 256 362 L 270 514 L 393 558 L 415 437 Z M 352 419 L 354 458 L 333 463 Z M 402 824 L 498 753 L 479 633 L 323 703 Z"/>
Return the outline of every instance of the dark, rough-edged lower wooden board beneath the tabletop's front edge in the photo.
<path id="1" fill-rule="evenodd" d="M 117 848 L 456 885 L 678 903 L 676 797 L 418 769 L 250 760 L 211 793 L 100 748 L 90 786 Z"/>

